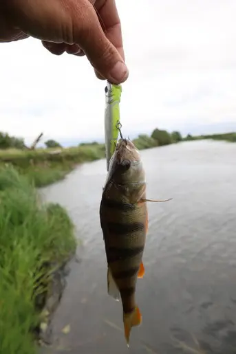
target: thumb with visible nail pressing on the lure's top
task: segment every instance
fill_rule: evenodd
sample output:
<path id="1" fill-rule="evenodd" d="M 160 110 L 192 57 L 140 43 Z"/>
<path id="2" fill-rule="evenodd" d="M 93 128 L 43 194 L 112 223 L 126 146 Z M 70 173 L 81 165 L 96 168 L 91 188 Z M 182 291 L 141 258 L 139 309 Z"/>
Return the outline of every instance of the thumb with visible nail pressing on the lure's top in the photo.
<path id="1" fill-rule="evenodd" d="M 118 50 L 109 41 L 100 25 L 94 6 L 86 0 L 78 19 L 73 18 L 74 43 L 89 59 L 95 71 L 110 82 L 119 84 L 127 80 L 129 71 Z M 99 75 L 98 75 L 99 76 Z"/>

